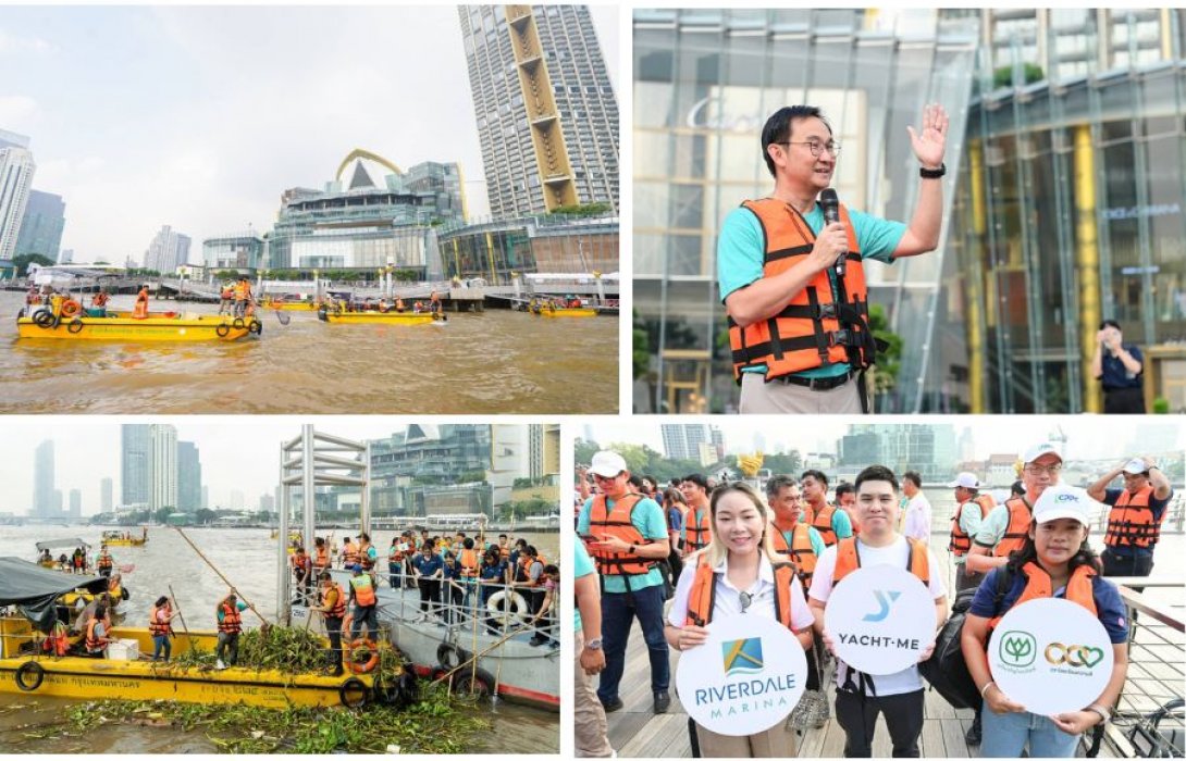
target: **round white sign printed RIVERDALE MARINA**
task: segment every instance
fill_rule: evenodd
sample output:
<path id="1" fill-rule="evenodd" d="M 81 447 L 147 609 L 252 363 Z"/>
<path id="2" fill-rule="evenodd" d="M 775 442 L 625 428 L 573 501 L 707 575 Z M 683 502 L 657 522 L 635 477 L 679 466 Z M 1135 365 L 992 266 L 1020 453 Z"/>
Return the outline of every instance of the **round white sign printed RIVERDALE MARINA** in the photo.
<path id="1" fill-rule="evenodd" d="M 680 703 L 720 735 L 752 735 L 786 718 L 806 688 L 808 659 L 795 634 L 763 615 L 708 625 L 708 641 L 680 654 Z"/>

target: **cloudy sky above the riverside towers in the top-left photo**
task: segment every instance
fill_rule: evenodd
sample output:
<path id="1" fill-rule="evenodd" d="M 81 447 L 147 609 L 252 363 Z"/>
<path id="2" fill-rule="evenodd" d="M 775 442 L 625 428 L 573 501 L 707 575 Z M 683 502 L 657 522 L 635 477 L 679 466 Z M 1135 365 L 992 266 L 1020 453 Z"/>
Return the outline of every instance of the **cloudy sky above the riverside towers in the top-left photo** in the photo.
<path id="1" fill-rule="evenodd" d="M 621 98 L 617 6 L 591 7 Z M 161 225 L 270 229 L 353 148 L 458 161 L 489 213 L 455 6 L 6 6 L 0 129 L 32 139 L 76 262 L 139 263 Z"/>

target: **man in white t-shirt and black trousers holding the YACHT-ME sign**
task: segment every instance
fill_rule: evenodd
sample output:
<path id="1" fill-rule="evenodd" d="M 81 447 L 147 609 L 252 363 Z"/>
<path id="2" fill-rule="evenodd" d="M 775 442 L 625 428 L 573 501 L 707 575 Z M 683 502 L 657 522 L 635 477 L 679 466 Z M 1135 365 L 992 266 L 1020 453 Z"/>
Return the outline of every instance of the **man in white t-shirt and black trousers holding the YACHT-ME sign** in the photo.
<path id="1" fill-rule="evenodd" d="M 854 542 L 861 568 L 872 565 L 911 567 L 911 545 L 898 533 L 898 479 L 890 468 L 873 465 L 856 477 L 856 512 L 861 533 L 842 539 L 824 550 L 811 577 L 808 603 L 815 612 L 815 629 L 824 644 L 833 650 L 831 637 L 824 629 L 824 610 L 831 596 L 833 580 L 840 551 Z M 925 548 L 923 545 L 920 550 Z M 935 626 L 943 625 L 948 615 L 946 590 L 935 555 L 926 549 L 927 578 L 935 599 Z M 920 660 L 931 657 L 932 641 Z M 871 676 L 850 669 L 836 659 L 836 721 L 844 730 L 844 756 L 871 757 L 873 755 L 873 730 L 878 715 L 884 714 L 895 757 L 917 757 L 918 737 L 923 731 L 923 678 L 918 666 L 910 666 L 897 673 Z"/>

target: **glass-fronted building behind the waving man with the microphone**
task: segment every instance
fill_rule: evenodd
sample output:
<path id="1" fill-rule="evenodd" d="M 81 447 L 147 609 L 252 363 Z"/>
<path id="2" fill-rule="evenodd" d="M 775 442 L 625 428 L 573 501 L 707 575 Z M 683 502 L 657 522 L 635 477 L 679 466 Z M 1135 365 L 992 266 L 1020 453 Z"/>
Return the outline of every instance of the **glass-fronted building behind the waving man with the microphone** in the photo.
<path id="1" fill-rule="evenodd" d="M 905 127 L 951 115 L 939 248 L 869 263 L 903 339 L 880 411 L 1099 409 L 1101 319 L 1186 407 L 1182 11 L 635 12 L 636 411 L 727 411 L 715 245 L 772 180 L 766 116 L 821 105 L 849 206 L 908 220 Z M 1152 395 L 1150 391 L 1152 390 Z"/>

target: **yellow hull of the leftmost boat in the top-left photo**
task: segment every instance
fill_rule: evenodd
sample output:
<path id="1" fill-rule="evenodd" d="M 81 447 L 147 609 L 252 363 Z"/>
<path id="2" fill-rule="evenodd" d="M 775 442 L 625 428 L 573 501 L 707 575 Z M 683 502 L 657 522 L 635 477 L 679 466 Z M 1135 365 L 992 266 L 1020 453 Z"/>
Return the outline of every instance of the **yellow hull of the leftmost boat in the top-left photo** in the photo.
<path id="1" fill-rule="evenodd" d="M 230 318 L 205 315 L 197 318 L 149 316 L 74 318 L 63 319 L 57 326 L 40 327 L 32 318 L 17 319 L 20 338 L 52 338 L 75 341 L 235 341 L 250 334 L 250 320 L 235 327 Z"/>

